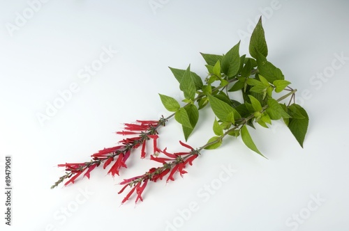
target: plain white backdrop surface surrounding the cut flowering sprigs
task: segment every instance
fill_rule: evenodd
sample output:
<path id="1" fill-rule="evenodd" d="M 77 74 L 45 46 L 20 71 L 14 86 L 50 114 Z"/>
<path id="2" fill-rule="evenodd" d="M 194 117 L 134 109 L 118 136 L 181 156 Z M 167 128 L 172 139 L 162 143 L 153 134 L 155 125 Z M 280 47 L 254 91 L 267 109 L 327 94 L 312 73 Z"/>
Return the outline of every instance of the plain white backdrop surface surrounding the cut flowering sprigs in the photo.
<path id="1" fill-rule="evenodd" d="M 35 12 L 33 2 L 0 1 L 1 175 L 5 155 L 13 157 L 13 227 L 4 225 L 1 193 L 1 230 L 348 230 L 348 1 L 51 0 L 36 1 Z M 64 174 L 57 164 L 89 161 L 115 145 L 123 122 L 169 115 L 158 93 L 182 95 L 168 66 L 191 63 L 205 78 L 199 52 L 223 54 L 242 40 L 246 54 L 242 35 L 260 15 L 268 60 L 298 89 L 297 102 L 309 113 L 304 149 L 274 122 L 251 132 L 269 160 L 239 138 L 225 141 L 202 152 L 184 179 L 148 184 L 136 206 L 134 198 L 119 206 L 126 193 L 117 194 L 117 183 L 154 166 L 139 151 L 121 177 L 100 167 L 90 180 L 50 189 Z M 103 47 L 117 54 L 89 80 L 80 78 Z M 335 54 L 346 57 L 343 63 Z M 38 113 L 71 83 L 79 91 L 40 123 Z M 214 117 L 201 113 L 188 141 L 194 147 L 213 136 Z M 179 140 L 173 121 L 161 129 L 161 148 L 179 151 Z M 236 170 L 225 182 L 222 166 Z"/>

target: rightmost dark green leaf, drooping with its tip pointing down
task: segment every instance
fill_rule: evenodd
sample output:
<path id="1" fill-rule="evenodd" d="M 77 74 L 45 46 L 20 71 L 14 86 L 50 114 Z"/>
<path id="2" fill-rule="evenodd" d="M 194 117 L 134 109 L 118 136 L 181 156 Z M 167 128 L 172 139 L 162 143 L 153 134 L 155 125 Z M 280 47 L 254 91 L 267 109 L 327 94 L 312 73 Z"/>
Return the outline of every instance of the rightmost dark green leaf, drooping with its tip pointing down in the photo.
<path id="1" fill-rule="evenodd" d="M 306 111 L 302 108 L 302 106 L 298 104 L 292 104 L 294 105 L 297 110 L 302 113 L 302 116 L 304 116 L 303 119 L 295 119 L 290 118 L 288 122 L 288 128 L 292 132 L 293 136 L 297 139 L 299 145 L 303 148 L 303 142 L 304 138 L 306 136 L 306 131 L 308 130 L 309 125 L 309 117 Z"/>

